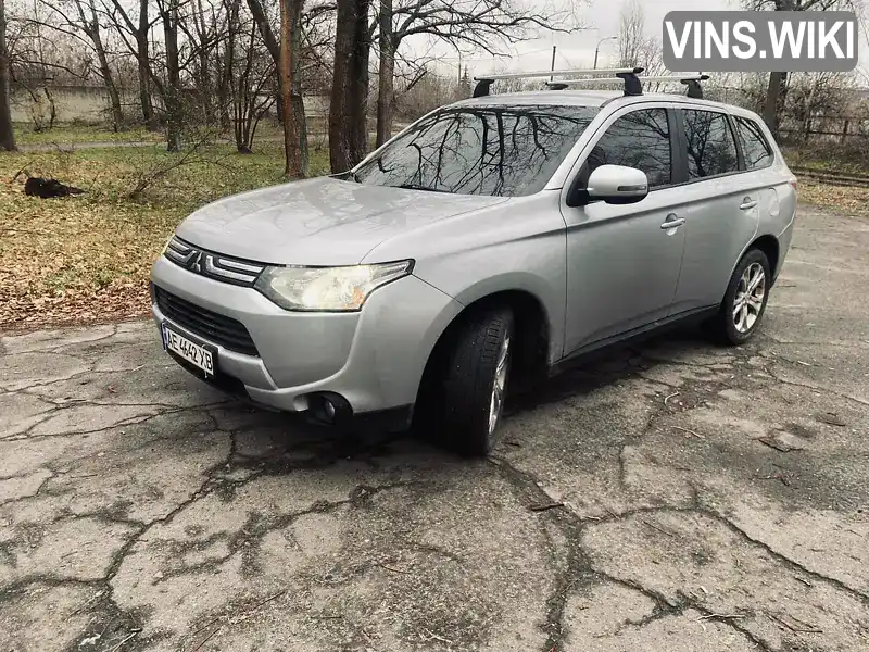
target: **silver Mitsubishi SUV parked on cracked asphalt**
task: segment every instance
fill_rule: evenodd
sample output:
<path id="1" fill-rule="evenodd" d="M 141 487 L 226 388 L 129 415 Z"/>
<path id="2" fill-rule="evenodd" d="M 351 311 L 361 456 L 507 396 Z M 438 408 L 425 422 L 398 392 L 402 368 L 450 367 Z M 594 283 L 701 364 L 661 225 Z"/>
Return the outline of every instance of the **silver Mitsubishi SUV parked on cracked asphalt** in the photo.
<path id="1" fill-rule="evenodd" d="M 424 116 L 352 171 L 222 199 L 152 272 L 172 356 L 332 424 L 437 424 L 483 454 L 505 392 L 688 317 L 757 330 L 796 181 L 750 111 L 546 90 Z"/>

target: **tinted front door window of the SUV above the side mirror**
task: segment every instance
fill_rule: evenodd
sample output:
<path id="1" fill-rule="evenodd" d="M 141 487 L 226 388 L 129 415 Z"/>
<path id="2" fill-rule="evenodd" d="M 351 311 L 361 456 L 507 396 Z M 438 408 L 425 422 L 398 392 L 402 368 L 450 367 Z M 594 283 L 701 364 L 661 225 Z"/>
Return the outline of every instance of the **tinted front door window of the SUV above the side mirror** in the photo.
<path id="1" fill-rule="evenodd" d="M 600 165 L 627 165 L 646 174 L 650 189 L 669 185 L 672 162 L 667 110 L 643 109 L 622 115 L 609 125 L 585 163 L 583 176 Z"/>

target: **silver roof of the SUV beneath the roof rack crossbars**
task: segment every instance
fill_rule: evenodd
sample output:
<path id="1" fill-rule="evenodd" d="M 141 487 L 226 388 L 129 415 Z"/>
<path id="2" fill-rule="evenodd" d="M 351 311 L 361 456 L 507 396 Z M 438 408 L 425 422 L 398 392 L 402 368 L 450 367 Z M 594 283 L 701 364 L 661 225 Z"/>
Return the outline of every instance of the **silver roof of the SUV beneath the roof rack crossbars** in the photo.
<path id="1" fill-rule="evenodd" d="M 505 92 L 461 100 L 451 106 L 503 106 L 503 105 L 542 105 L 542 106 L 596 106 L 613 104 L 625 106 L 644 102 L 675 102 L 685 105 L 702 105 L 709 109 L 727 111 L 735 115 L 743 115 L 757 120 L 757 114 L 722 102 L 689 98 L 683 95 L 671 93 L 644 93 L 641 96 L 625 96 L 620 90 L 534 90 L 524 92 Z"/>

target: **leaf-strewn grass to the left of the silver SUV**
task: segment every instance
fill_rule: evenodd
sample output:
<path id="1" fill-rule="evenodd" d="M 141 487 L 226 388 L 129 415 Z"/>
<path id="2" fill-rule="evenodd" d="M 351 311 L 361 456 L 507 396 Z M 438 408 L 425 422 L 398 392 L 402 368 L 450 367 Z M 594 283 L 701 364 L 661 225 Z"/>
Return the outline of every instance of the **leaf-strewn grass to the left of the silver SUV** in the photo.
<path id="1" fill-rule="evenodd" d="M 0 329 L 146 314 L 151 264 L 188 213 L 281 181 L 276 147 L 252 155 L 215 147 L 158 180 L 140 201 L 127 199 L 142 174 L 172 156 L 162 146 L 0 155 Z M 325 152 L 312 151 L 312 172 L 322 174 L 326 164 Z M 27 197 L 21 179 L 11 181 L 25 165 L 87 193 Z"/>

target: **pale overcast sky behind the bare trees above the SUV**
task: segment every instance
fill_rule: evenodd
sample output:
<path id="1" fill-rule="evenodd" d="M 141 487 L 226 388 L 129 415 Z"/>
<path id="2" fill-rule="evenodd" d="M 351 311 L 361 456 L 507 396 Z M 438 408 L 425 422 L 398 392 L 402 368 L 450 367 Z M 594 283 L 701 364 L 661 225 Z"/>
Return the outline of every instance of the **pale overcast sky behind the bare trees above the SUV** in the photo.
<path id="1" fill-rule="evenodd" d="M 533 4 L 536 0 L 525 0 Z M 556 0 L 570 2 L 571 0 Z M 509 59 L 494 60 L 486 54 L 475 54 L 462 59 L 462 65 L 468 65 L 471 77 L 477 74 L 495 71 L 537 71 L 549 70 L 552 61 L 552 46 L 556 46 L 556 68 L 591 67 L 594 62 L 594 49 L 600 39 L 618 34 L 619 12 L 627 0 L 591 0 L 590 4 L 579 4 L 577 13 L 585 29 L 572 34 L 545 34 L 541 38 L 524 41 L 514 46 L 515 55 Z M 664 16 L 671 11 L 685 11 L 703 9 L 736 10 L 742 9 L 740 0 L 639 0 L 645 18 L 645 30 L 648 37 L 660 39 Z M 458 74 L 458 57 L 454 51 L 438 51 L 438 67 L 443 74 L 452 71 Z M 617 55 L 615 40 L 605 40 L 601 43 L 599 66 L 614 63 Z M 861 70 L 869 70 L 869 47 L 866 38 L 860 39 Z"/>

